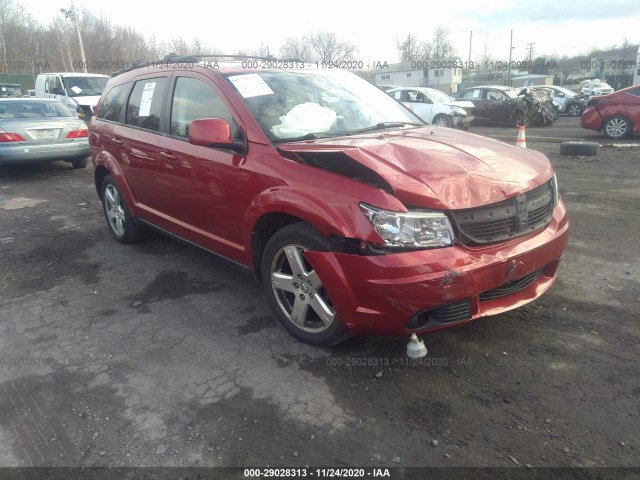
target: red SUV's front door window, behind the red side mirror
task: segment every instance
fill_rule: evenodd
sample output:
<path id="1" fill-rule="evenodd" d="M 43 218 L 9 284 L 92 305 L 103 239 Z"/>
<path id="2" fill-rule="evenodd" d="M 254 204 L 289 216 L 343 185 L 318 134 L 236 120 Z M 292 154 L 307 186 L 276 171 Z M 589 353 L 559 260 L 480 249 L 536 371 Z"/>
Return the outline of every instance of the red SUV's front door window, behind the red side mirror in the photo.
<path id="1" fill-rule="evenodd" d="M 231 126 L 231 137 L 237 138 L 238 126 L 218 94 L 196 78 L 178 77 L 171 103 L 171 135 L 189 136 L 189 125 L 200 118 L 222 118 Z"/>

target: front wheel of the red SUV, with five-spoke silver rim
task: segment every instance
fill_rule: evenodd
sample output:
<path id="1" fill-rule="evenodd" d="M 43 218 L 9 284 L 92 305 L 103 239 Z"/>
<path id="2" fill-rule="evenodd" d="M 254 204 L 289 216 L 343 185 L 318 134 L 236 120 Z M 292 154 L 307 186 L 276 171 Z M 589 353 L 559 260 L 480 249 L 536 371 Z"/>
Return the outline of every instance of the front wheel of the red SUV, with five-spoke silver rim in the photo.
<path id="1" fill-rule="evenodd" d="M 311 225 L 299 222 L 278 230 L 262 255 L 262 284 L 278 321 L 294 337 L 329 347 L 347 339 L 322 280 L 303 252 L 332 249 Z"/>

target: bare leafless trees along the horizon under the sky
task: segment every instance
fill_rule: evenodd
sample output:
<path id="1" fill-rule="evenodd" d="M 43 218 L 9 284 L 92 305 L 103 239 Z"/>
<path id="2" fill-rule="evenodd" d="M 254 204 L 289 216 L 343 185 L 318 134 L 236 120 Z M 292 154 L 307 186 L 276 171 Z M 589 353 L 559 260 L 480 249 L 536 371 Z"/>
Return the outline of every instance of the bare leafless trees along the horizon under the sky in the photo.
<path id="1" fill-rule="evenodd" d="M 145 36 L 133 27 L 113 24 L 102 16 L 81 9 L 77 15 L 82 35 L 88 70 L 92 73 L 110 74 L 121 66 L 140 61 L 161 59 L 169 53 L 179 55 L 222 54 L 215 45 L 196 37 L 186 41 L 182 37 L 170 41 Z M 395 45 L 400 62 L 425 59 L 445 59 L 456 56 L 456 50 L 445 27 L 434 29 L 431 39 L 420 41 L 409 34 Z M 588 54 L 573 57 L 538 56 L 522 61 L 531 73 L 566 76 L 598 55 L 615 55 L 621 62 L 635 62 L 638 46 L 624 39 L 622 46 L 592 50 Z M 236 55 L 277 56 L 280 59 L 297 59 L 305 62 L 336 64 L 360 60 L 356 45 L 344 41 L 335 33 L 316 32 L 301 37 L 287 38 L 277 51 L 265 45 L 254 50 L 240 50 Z M 496 59 L 504 60 L 504 59 Z M 515 60 L 515 59 L 514 59 Z M 486 52 L 476 57 L 477 70 L 491 70 L 494 58 Z M 391 61 L 389 63 L 392 63 Z M 0 72 L 39 73 L 41 71 L 82 71 L 80 52 L 73 15 L 60 14 L 48 25 L 33 19 L 24 6 L 16 0 L 0 0 Z M 597 69 L 593 70 L 597 72 Z"/>

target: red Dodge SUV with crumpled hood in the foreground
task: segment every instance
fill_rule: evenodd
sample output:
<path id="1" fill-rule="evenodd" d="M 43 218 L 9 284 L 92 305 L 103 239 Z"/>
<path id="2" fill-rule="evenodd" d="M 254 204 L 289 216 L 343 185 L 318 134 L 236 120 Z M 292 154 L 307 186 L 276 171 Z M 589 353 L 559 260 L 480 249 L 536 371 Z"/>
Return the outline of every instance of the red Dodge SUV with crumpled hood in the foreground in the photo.
<path id="1" fill-rule="evenodd" d="M 425 125 L 349 72 L 170 60 L 112 78 L 91 120 L 116 240 L 152 227 L 242 265 L 316 345 L 460 325 L 554 282 L 569 221 L 543 154 Z"/>

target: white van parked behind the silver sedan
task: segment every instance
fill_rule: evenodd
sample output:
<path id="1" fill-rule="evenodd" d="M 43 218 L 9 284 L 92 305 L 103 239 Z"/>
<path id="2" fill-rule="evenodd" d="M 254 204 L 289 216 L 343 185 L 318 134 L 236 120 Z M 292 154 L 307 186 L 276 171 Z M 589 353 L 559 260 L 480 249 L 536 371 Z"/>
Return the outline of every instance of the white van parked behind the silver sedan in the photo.
<path id="1" fill-rule="evenodd" d="M 36 96 L 56 98 L 83 118 L 93 115 L 109 77 L 97 73 L 41 73 L 36 78 Z"/>

